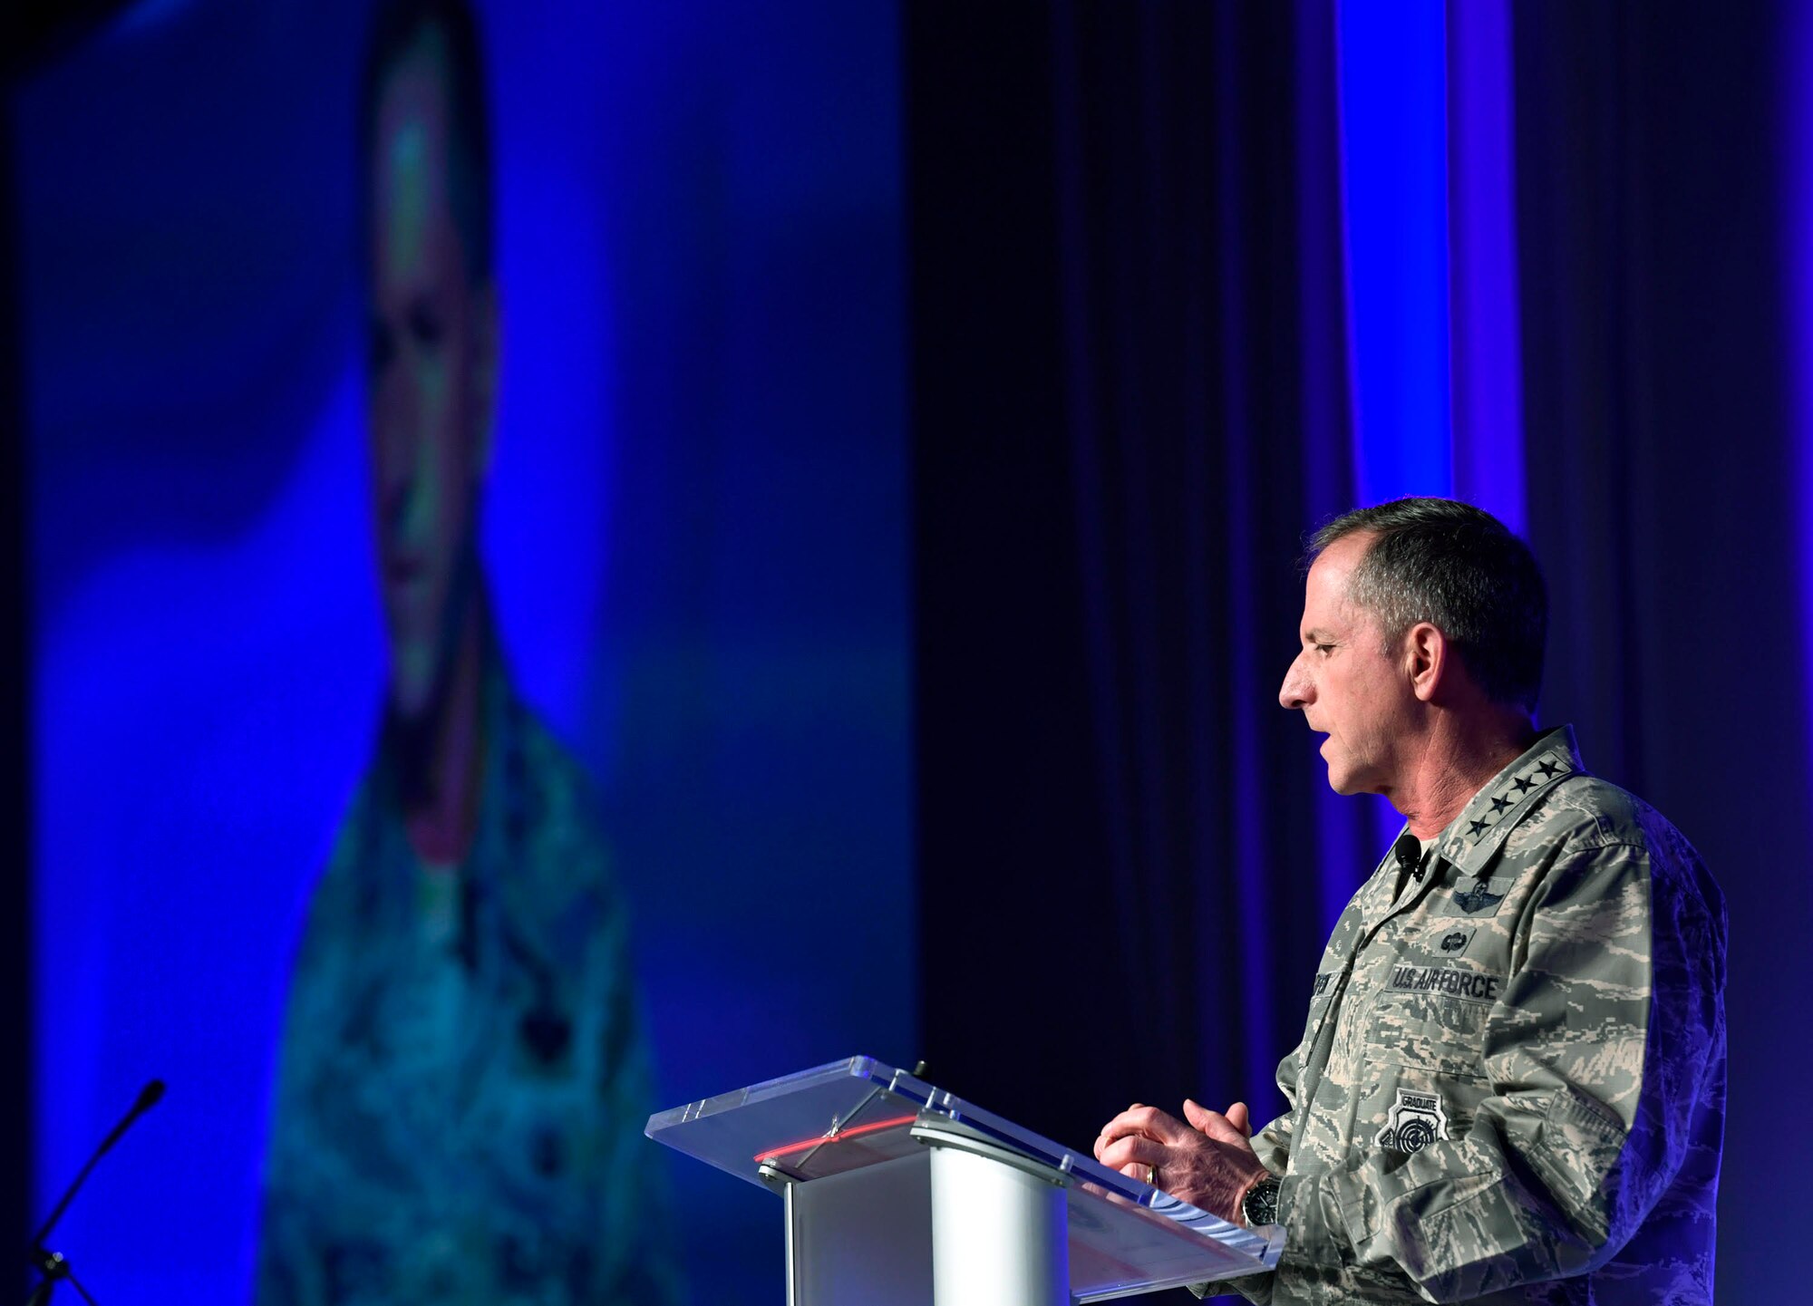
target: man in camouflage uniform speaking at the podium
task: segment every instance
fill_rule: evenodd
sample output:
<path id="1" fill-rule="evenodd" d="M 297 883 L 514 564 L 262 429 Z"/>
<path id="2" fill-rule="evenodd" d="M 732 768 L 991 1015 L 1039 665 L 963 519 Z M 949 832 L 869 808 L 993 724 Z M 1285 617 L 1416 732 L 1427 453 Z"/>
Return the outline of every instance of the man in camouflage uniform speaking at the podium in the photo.
<path id="1" fill-rule="evenodd" d="M 1256 1302 L 1710 1302 L 1724 1134 L 1724 900 L 1688 842 L 1532 724 L 1528 550 L 1403 499 L 1314 539 L 1280 691 L 1338 793 L 1405 833 L 1334 927 L 1291 1110 L 1117 1116 L 1097 1155 L 1276 1223 Z"/>

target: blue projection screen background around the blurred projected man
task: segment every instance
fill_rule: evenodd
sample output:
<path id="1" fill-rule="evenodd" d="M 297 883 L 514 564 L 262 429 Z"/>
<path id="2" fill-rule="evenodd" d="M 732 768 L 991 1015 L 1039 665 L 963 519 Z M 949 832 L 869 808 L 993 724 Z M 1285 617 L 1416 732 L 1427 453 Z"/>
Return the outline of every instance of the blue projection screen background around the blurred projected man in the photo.
<path id="1" fill-rule="evenodd" d="M 290 963 L 375 742 L 364 27 L 149 0 L 11 103 L 34 1219 L 169 1081 L 51 1241 L 100 1301 L 248 1295 Z M 480 553 L 517 689 L 596 793 L 653 1105 L 910 1065 L 894 11 L 486 4 L 480 29 Z M 772 1195 L 635 1163 L 694 1301 L 778 1299 Z"/>

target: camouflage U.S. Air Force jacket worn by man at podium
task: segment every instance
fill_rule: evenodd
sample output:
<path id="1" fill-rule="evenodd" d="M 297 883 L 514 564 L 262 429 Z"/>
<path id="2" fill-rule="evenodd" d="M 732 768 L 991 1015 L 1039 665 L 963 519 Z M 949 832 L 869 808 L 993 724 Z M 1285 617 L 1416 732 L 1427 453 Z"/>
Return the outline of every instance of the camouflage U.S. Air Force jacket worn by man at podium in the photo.
<path id="1" fill-rule="evenodd" d="M 1724 900 L 1653 809 L 1543 735 L 1334 925 L 1291 1114 L 1285 1302 L 1710 1302 Z"/>

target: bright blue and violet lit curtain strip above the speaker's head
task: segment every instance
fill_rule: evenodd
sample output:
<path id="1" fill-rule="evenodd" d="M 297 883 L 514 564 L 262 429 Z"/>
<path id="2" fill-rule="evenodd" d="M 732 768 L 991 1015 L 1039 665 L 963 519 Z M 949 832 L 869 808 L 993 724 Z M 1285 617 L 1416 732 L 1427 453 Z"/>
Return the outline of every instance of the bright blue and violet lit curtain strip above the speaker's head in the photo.
<path id="1" fill-rule="evenodd" d="M 1521 533 L 1508 2 L 1343 0 L 1336 82 L 1354 499 L 1459 495 Z M 1369 814 L 1383 845 L 1400 816 Z"/>

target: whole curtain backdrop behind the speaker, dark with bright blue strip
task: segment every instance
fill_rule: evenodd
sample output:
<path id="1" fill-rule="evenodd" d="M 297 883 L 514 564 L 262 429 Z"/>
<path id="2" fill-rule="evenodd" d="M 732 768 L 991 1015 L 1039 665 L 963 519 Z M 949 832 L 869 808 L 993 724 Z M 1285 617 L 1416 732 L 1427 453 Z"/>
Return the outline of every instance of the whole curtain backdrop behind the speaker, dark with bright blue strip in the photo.
<path id="1" fill-rule="evenodd" d="M 1546 568 L 1541 720 L 1726 891 L 1719 1299 L 1804 1295 L 1813 25 L 906 13 L 926 1056 L 1077 1141 L 1129 1101 L 1282 1110 L 1398 827 L 1276 706 L 1296 555 L 1458 493 Z M 1064 1074 L 1026 1097 L 1026 1065 Z"/>

